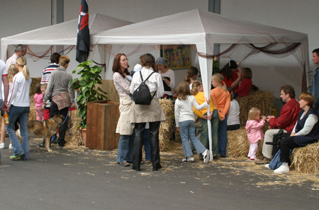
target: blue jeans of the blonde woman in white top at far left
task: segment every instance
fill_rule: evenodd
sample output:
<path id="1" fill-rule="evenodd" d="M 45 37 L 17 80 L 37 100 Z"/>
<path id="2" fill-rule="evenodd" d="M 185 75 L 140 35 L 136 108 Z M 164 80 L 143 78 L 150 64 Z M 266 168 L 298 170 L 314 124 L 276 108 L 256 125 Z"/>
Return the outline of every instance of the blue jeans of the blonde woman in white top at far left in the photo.
<path id="1" fill-rule="evenodd" d="M 15 156 L 24 154 L 24 158 L 29 158 L 29 134 L 28 134 L 28 118 L 29 118 L 30 107 L 16 107 L 11 105 L 9 112 L 9 124 L 6 125 L 6 132 L 8 132 L 11 144 L 13 146 L 13 154 Z M 22 144 L 16 132 L 14 131 L 14 122 L 19 119 L 20 132 L 22 136 Z"/>

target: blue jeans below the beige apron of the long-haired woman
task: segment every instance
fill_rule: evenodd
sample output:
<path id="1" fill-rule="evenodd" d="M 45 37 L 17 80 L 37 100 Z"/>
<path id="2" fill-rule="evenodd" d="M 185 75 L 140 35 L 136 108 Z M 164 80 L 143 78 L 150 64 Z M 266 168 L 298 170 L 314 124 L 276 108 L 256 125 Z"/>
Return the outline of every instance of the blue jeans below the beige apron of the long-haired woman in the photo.
<path id="1" fill-rule="evenodd" d="M 116 162 L 122 163 L 124 161 L 133 161 L 134 136 L 134 133 L 132 135 L 120 136 L 120 141 L 118 141 L 118 157 L 116 158 Z"/>

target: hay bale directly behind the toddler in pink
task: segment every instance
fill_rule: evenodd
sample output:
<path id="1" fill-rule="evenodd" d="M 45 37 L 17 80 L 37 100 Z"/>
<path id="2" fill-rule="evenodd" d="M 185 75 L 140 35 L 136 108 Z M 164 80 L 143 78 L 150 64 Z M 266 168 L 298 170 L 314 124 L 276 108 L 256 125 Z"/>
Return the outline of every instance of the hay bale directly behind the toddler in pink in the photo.
<path id="1" fill-rule="evenodd" d="M 262 155 L 263 140 L 258 141 L 258 150 L 256 156 Z M 228 156 L 233 158 L 247 157 L 250 151 L 250 143 L 247 139 L 247 133 L 245 127 L 240 127 L 235 131 L 227 132 L 227 148 Z"/>

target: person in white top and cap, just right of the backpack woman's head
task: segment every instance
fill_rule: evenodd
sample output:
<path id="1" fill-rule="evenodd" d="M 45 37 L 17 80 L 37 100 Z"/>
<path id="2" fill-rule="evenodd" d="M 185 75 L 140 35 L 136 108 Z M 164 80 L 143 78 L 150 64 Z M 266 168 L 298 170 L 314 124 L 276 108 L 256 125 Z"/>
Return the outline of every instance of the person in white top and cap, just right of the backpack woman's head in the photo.
<path id="1" fill-rule="evenodd" d="M 164 98 L 173 100 L 171 89 L 175 87 L 175 73 L 172 69 L 167 68 L 164 57 L 156 59 L 157 69 L 163 79 Z"/>

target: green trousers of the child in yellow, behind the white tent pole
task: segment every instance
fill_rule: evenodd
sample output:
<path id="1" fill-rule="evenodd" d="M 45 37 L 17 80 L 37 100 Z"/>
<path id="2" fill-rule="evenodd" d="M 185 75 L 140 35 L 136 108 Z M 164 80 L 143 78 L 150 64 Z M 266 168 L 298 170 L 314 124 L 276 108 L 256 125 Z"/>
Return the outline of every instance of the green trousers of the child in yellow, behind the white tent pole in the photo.
<path id="1" fill-rule="evenodd" d="M 211 146 L 214 155 L 218 154 L 218 124 L 218 111 L 213 110 L 213 117 L 211 118 Z M 206 119 L 202 121 L 201 143 L 209 149 L 208 123 Z"/>

